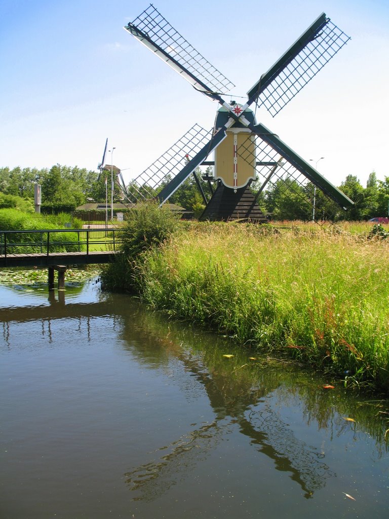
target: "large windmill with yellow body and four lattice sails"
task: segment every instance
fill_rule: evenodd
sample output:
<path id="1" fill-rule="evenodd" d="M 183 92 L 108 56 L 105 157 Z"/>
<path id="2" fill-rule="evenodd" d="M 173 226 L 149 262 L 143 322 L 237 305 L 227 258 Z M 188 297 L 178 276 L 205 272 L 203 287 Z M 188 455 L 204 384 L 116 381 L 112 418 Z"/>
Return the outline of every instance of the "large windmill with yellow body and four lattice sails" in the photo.
<path id="1" fill-rule="evenodd" d="M 309 187 L 314 186 L 343 209 L 353 205 L 275 133 L 257 123 L 251 108 L 255 106 L 256 111 L 264 106 L 274 117 L 348 42 L 350 37 L 325 13 L 260 76 L 248 90 L 243 105 L 227 102 L 222 97 L 234 87 L 231 81 L 193 48 L 152 4 L 124 29 L 184 77 L 195 90 L 220 104 L 211 130 L 197 124 L 192 126 L 134 179 L 129 186 L 134 200 L 157 197 L 162 204 L 189 175 L 195 174 L 206 204 L 202 219 L 243 217 L 266 221 L 257 199 L 267 186 L 288 189 L 306 202 L 309 202 Z M 212 153 L 214 161 L 206 161 Z M 206 199 L 196 176 L 196 168 L 200 165 L 214 166 L 213 179 L 203 177 L 211 186 L 210 200 Z M 213 190 L 211 180 L 217 182 L 216 190 Z M 249 188 L 253 181 L 259 184 L 256 195 Z M 316 198 L 316 209 L 317 203 Z"/>

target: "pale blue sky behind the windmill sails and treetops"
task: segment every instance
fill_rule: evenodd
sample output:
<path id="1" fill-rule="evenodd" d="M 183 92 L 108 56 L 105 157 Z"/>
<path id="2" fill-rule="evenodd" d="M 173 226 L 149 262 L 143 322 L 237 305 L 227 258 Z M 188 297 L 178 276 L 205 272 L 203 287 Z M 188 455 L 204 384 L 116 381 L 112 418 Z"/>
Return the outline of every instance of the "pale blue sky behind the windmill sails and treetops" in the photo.
<path id="1" fill-rule="evenodd" d="M 213 126 L 217 105 L 123 30 L 148 5 L 2 0 L 0 167 L 96 169 L 108 138 L 129 181 L 195 122 Z M 352 39 L 276 117 L 262 109 L 257 119 L 303 158 L 325 157 L 318 170 L 336 185 L 348 174 L 364 185 L 373 170 L 389 176 L 387 0 L 154 6 L 237 85 L 235 96 L 324 11 Z"/>

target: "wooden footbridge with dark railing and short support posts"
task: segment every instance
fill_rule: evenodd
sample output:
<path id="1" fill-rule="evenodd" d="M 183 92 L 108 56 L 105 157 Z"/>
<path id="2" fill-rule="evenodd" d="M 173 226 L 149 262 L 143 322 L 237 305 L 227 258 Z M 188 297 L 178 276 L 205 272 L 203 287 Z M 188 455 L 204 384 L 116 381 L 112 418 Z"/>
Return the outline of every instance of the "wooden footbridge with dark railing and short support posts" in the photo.
<path id="1" fill-rule="evenodd" d="M 61 290 L 67 268 L 110 263 L 120 243 L 118 229 L 2 230 L 0 267 L 47 267 L 49 290 L 54 288 L 57 270 Z"/>

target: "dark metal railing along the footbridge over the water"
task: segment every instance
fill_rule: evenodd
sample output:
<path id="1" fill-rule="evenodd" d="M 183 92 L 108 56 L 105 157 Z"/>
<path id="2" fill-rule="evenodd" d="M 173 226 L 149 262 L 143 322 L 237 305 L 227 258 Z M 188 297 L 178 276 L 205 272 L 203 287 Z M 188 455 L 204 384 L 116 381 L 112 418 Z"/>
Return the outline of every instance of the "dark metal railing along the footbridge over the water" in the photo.
<path id="1" fill-rule="evenodd" d="M 0 256 L 37 253 L 49 256 L 54 252 L 84 252 L 89 255 L 90 252 L 104 250 L 115 252 L 122 243 L 121 232 L 119 229 L 106 228 L 0 230 Z M 93 247 L 91 251 L 92 245 L 99 245 L 99 248 Z"/>

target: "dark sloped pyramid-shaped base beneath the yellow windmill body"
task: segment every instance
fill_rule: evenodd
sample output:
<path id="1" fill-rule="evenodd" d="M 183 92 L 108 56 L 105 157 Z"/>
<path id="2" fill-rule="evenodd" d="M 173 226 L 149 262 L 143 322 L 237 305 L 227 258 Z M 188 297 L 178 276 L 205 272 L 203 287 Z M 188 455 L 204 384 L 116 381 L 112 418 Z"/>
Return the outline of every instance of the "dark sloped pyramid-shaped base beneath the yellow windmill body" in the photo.
<path id="1" fill-rule="evenodd" d="M 219 182 L 210 202 L 199 220 L 211 222 L 227 222 L 231 220 L 267 223 L 266 216 L 259 209 L 249 186 L 234 190 Z"/>

